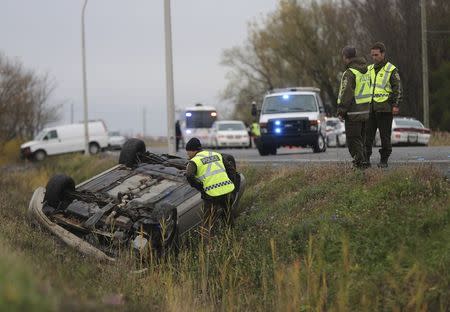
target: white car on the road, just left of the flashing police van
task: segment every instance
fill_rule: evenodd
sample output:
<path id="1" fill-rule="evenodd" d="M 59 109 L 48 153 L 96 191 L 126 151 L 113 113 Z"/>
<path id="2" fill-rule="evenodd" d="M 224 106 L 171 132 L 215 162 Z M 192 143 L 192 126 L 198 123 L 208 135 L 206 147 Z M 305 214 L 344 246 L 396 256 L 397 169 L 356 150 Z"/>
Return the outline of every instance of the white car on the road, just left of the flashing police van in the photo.
<path id="1" fill-rule="evenodd" d="M 250 137 L 245 124 L 240 120 L 221 120 L 212 125 L 210 146 L 249 147 Z"/>

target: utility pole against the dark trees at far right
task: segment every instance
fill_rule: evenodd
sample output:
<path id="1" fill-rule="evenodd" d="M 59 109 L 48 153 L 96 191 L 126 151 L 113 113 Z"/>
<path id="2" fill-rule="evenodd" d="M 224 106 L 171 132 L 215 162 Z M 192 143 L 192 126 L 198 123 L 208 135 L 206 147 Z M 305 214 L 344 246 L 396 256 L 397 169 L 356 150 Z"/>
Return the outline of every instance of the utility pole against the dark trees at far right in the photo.
<path id="1" fill-rule="evenodd" d="M 422 93 L 423 93 L 423 123 L 430 127 L 429 95 L 428 95 L 428 48 L 427 48 L 427 10 L 425 0 L 420 0 L 420 16 L 422 28 Z"/>

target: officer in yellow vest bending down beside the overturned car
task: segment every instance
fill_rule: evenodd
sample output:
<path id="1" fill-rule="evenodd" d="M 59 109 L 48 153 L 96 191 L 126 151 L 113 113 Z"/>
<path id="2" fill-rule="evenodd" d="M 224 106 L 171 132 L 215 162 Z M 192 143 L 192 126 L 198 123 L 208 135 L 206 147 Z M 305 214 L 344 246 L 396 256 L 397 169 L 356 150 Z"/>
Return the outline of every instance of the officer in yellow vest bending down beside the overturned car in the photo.
<path id="1" fill-rule="evenodd" d="M 226 223 L 232 222 L 231 201 L 235 185 L 230 179 L 235 168 L 224 161 L 220 153 L 202 149 L 200 140 L 192 138 L 186 143 L 190 159 L 186 167 L 186 179 L 202 194 L 204 206 L 204 227 L 211 228 L 222 214 Z"/>

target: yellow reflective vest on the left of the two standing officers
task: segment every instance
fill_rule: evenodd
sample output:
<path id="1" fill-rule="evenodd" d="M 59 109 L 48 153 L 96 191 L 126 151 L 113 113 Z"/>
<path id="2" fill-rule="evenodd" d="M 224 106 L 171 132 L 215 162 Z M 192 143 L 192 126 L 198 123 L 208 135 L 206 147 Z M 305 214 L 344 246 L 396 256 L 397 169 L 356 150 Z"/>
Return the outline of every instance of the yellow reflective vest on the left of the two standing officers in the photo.
<path id="1" fill-rule="evenodd" d="M 354 68 L 349 68 L 349 70 L 355 75 L 355 103 L 356 106 L 352 106 L 350 111 L 347 112 L 347 115 L 361 115 L 369 113 L 369 105 L 372 101 L 372 89 L 370 84 L 370 73 L 367 71 L 366 73 L 361 73 L 359 70 Z M 337 103 L 341 104 L 341 97 L 343 92 L 343 78 L 345 72 L 342 74 L 341 78 L 341 86 L 339 89 L 339 96 Z"/>

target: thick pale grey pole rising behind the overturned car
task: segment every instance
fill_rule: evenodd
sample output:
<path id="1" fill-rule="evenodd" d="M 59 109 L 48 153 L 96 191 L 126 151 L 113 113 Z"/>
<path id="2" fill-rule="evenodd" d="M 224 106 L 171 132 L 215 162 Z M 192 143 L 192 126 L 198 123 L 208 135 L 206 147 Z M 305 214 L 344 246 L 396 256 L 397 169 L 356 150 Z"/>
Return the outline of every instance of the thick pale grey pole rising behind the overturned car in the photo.
<path id="1" fill-rule="evenodd" d="M 164 1 L 164 32 L 166 42 L 166 96 L 167 96 L 167 145 L 168 153 L 175 154 L 175 99 L 173 91 L 172 26 L 170 0 Z"/>

